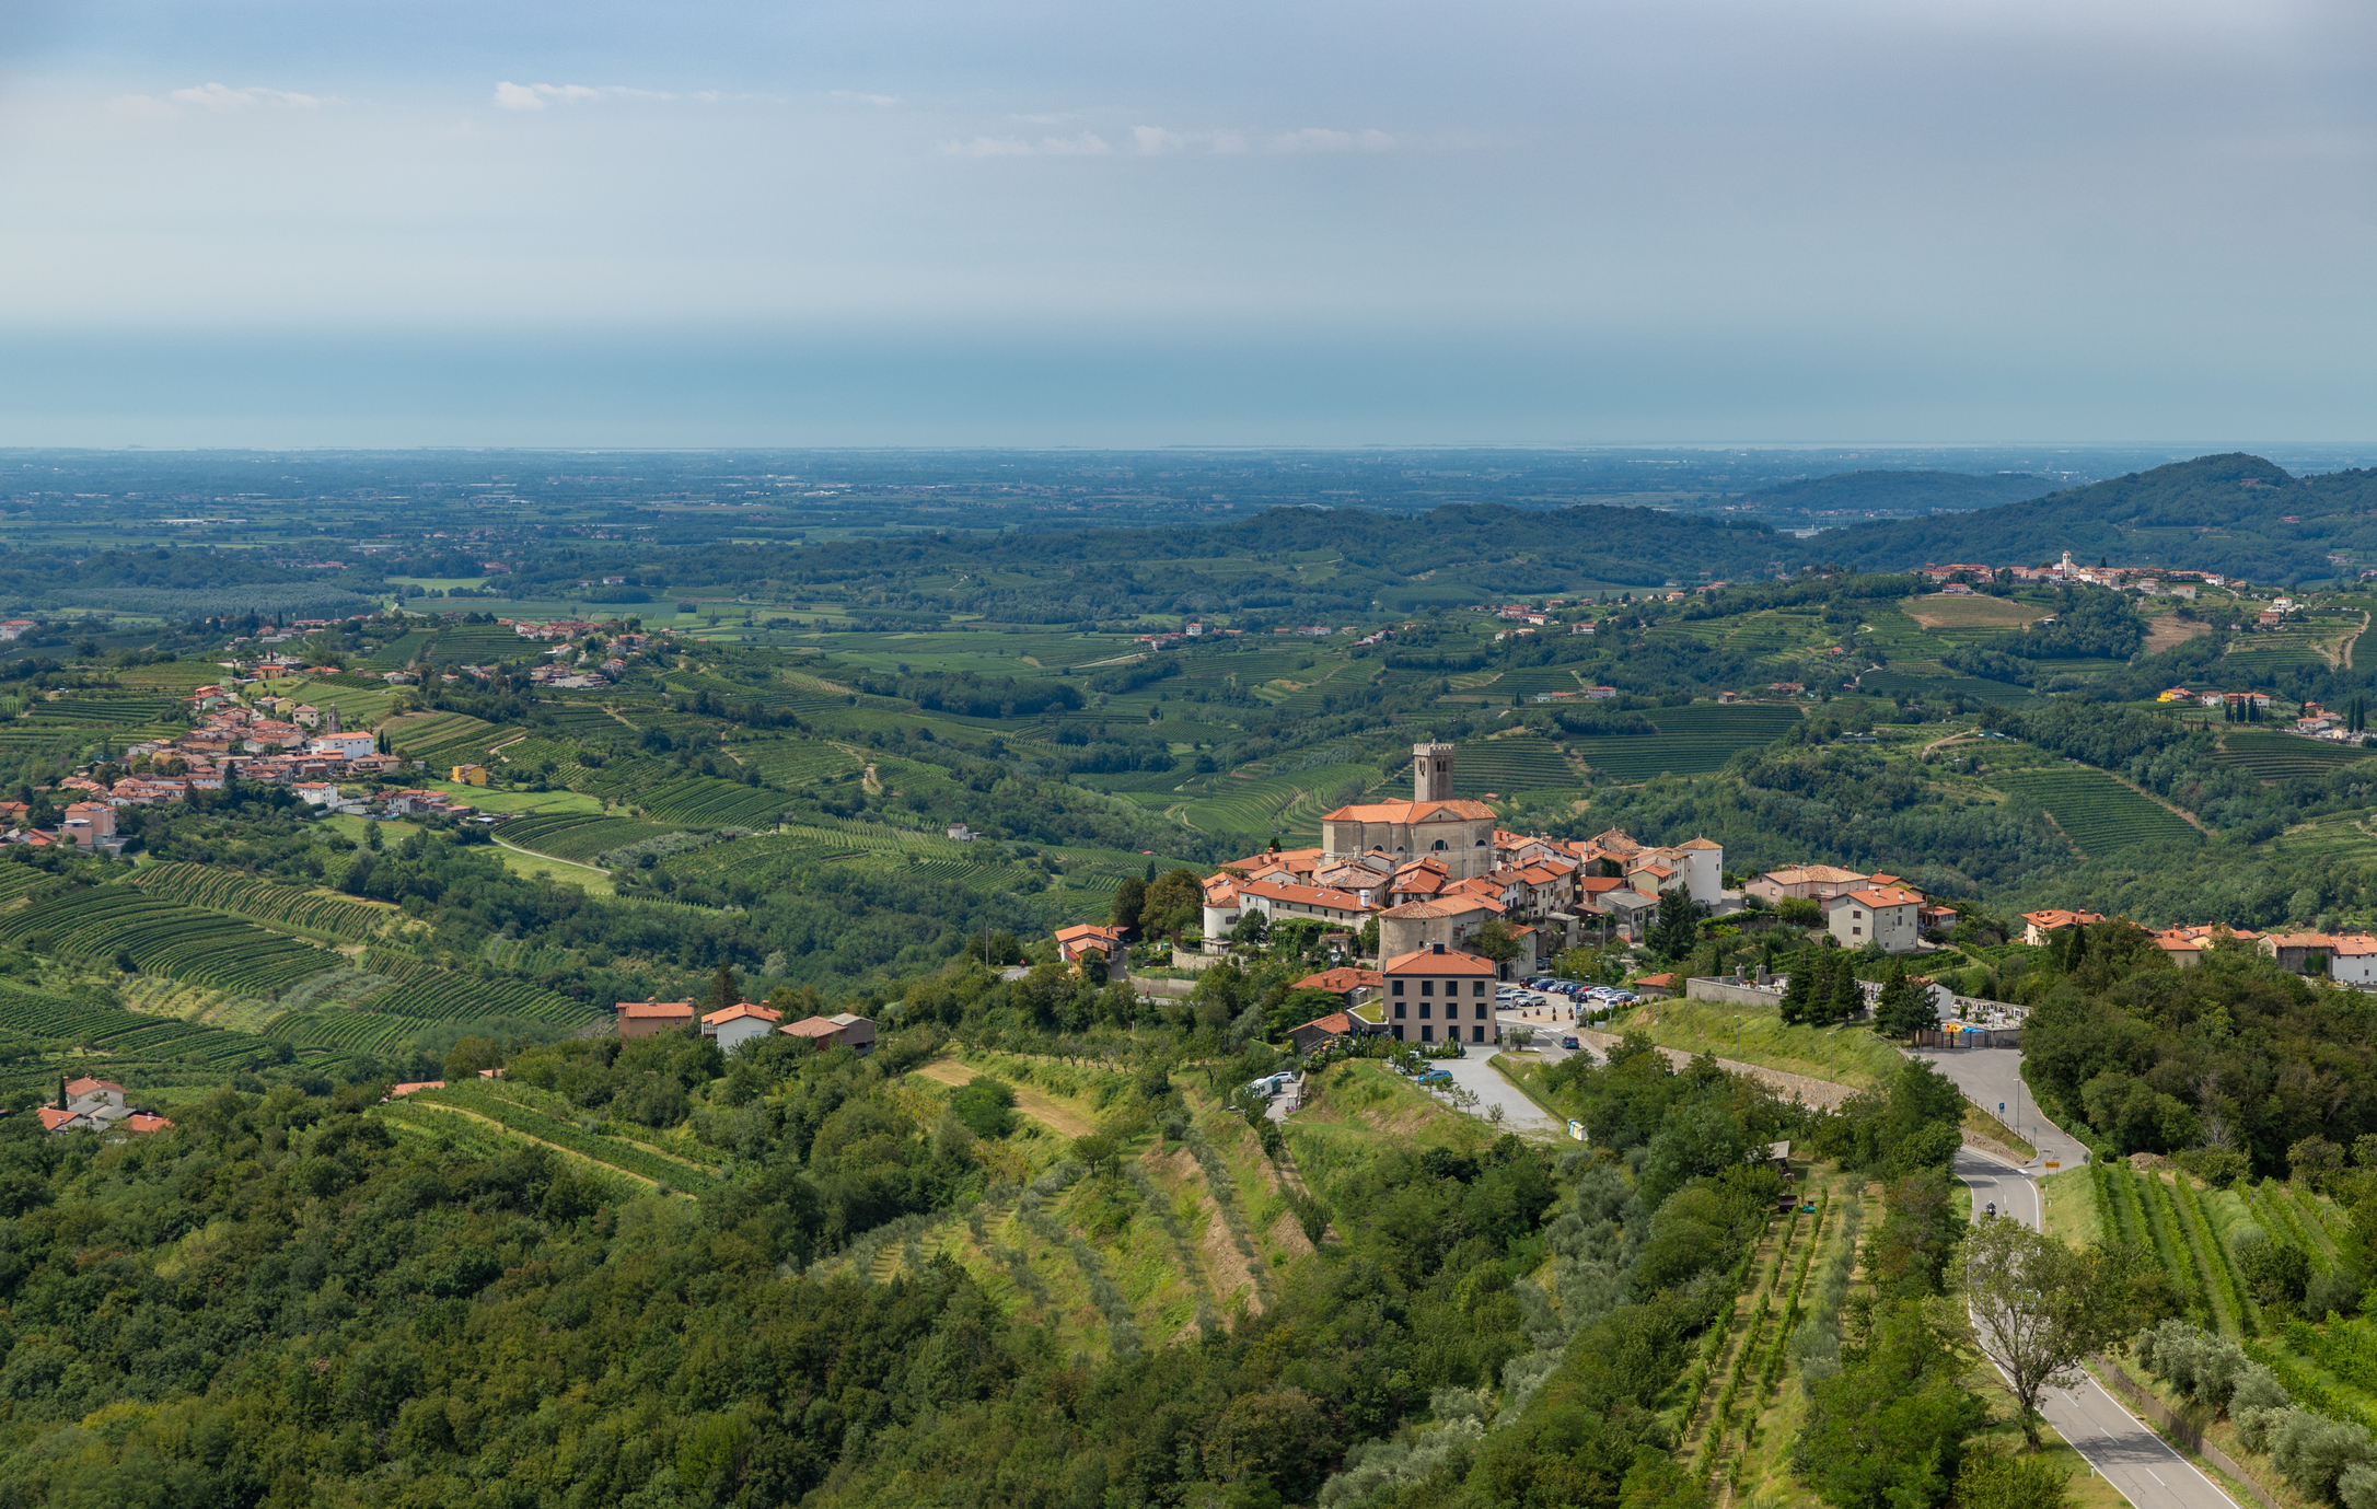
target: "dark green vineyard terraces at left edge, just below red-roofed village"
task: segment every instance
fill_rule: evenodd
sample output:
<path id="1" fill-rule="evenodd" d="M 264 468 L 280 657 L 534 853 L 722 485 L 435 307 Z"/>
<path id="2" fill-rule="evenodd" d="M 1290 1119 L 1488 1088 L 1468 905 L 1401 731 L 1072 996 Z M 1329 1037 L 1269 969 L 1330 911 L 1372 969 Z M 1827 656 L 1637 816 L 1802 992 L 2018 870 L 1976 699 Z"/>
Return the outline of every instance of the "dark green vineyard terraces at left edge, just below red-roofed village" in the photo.
<path id="1" fill-rule="evenodd" d="M 0 939 L 38 936 L 62 958 L 100 960 L 124 951 L 143 972 L 250 996 L 271 996 L 340 962 L 311 943 L 133 886 L 69 891 L 0 917 Z"/>

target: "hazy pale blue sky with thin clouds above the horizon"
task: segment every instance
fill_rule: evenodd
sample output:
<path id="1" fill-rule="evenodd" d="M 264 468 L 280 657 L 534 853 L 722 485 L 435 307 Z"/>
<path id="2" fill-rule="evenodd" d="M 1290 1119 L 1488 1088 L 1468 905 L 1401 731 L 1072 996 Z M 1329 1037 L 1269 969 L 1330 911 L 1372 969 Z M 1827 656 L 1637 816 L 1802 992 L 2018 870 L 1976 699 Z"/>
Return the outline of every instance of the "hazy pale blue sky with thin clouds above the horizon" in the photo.
<path id="1" fill-rule="evenodd" d="M 0 444 L 2367 440 L 2377 5 L 0 0 Z"/>

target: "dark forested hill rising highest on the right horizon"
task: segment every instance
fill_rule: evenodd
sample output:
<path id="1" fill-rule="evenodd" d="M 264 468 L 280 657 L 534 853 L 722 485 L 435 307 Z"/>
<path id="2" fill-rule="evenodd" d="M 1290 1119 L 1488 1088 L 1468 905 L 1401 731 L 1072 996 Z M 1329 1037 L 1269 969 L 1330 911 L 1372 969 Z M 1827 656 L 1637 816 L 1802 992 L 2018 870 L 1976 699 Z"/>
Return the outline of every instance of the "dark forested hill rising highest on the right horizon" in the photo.
<path id="1" fill-rule="evenodd" d="M 2035 501 L 1854 525 L 1821 544 L 1828 561 L 1866 570 L 2044 563 L 2070 551 L 2089 563 L 2320 580 L 2339 570 L 2329 554 L 2377 551 L 2377 471 L 2294 478 L 2261 456 L 2199 456 Z"/>

